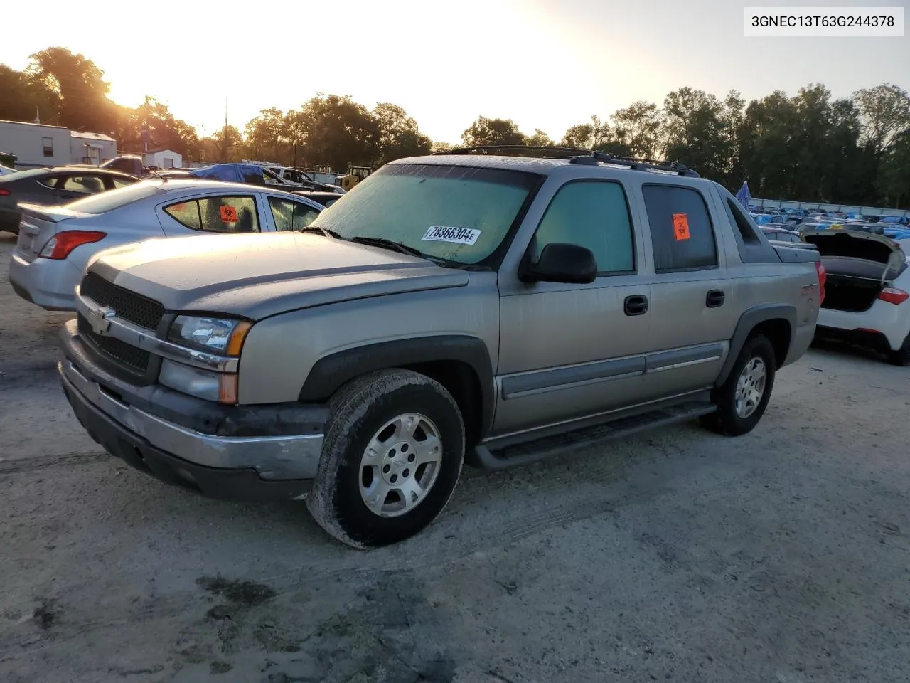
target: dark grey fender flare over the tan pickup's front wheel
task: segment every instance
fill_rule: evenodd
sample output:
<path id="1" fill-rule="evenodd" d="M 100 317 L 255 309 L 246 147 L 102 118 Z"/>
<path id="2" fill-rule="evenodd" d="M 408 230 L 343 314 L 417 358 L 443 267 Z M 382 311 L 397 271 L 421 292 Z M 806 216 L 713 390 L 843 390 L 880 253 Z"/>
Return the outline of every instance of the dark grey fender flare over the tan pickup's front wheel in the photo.
<path id="1" fill-rule="evenodd" d="M 343 384 L 369 372 L 446 361 L 462 362 L 477 375 L 481 397 L 480 434 L 489 433 L 496 405 L 493 365 L 487 344 L 467 334 L 367 343 L 324 356 L 309 371 L 299 400 L 303 403 L 324 402 Z"/>

